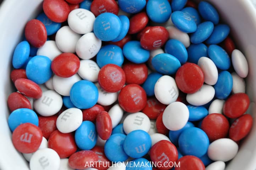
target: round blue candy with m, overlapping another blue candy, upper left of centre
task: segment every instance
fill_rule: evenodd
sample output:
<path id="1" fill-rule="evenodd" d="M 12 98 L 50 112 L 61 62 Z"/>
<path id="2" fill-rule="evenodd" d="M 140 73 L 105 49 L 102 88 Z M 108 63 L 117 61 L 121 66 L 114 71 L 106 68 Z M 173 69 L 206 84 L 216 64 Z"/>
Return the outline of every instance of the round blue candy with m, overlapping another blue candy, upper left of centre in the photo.
<path id="1" fill-rule="evenodd" d="M 95 36 L 102 41 L 115 40 L 121 33 L 122 23 L 118 16 L 105 12 L 96 17 L 93 24 Z"/>

